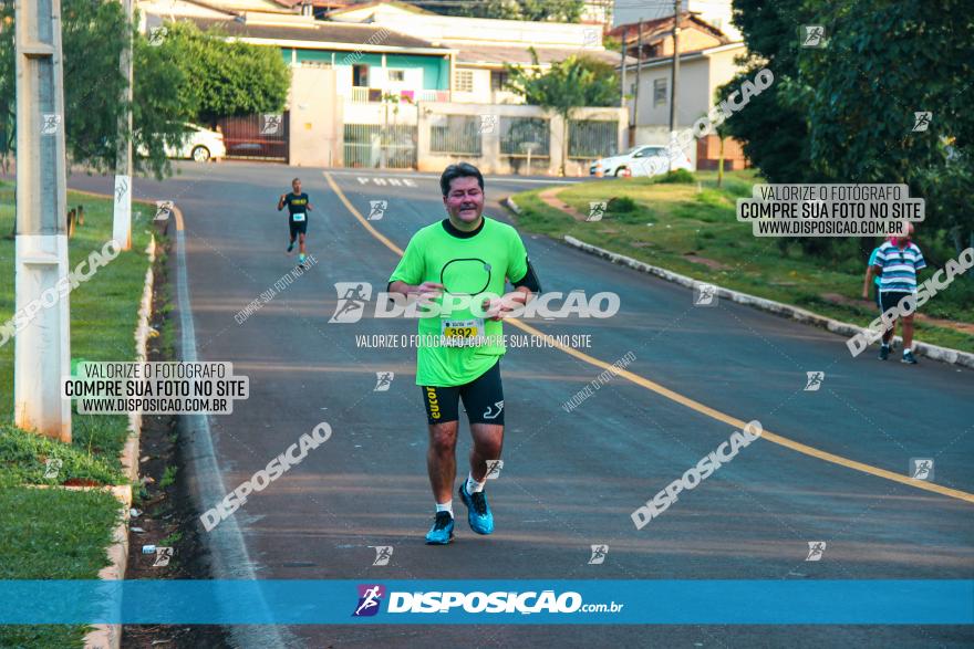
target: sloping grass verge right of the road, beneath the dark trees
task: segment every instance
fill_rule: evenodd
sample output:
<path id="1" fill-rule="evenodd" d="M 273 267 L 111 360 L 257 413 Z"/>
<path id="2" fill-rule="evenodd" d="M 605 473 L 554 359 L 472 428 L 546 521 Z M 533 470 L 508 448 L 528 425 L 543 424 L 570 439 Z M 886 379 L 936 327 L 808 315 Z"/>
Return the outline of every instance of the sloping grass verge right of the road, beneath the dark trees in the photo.
<path id="1" fill-rule="evenodd" d="M 750 224 L 737 222 L 735 206 L 738 197 L 750 196 L 752 186 L 758 181 L 755 172 L 726 174 L 722 187 L 717 187 L 715 171 L 694 176 L 696 181 L 690 184 L 650 178 L 582 182 L 558 193 L 559 201 L 583 214 L 589 213 L 591 202 L 608 202 L 602 220 L 592 222 L 576 220 L 546 205 L 539 195 L 549 188 L 520 192 L 514 196 L 522 212 L 517 223 L 529 232 L 559 240 L 570 234 L 704 282 L 861 326 L 879 315 L 873 302 L 861 299 L 868 251 L 861 253 L 859 240 L 841 240 L 832 253 L 823 257 L 777 238 L 754 237 Z M 956 257 L 950 250 L 929 244 L 931 239 L 929 234 L 924 239 L 921 227 L 918 243 L 929 258 Z M 934 270 L 930 264 L 929 270 L 921 271 L 920 280 Z M 928 302 L 921 313 L 974 323 L 974 278 L 955 281 Z M 915 337 L 974 353 L 974 334 L 920 318 Z"/>

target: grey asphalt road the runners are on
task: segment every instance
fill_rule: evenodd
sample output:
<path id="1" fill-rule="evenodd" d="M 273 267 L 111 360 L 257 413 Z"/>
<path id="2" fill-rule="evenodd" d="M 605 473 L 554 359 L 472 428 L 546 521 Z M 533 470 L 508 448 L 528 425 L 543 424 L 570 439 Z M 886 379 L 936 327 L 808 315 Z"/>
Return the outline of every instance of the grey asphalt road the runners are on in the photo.
<path id="1" fill-rule="evenodd" d="M 330 324 L 336 282 L 384 289 L 397 257 L 356 219 L 321 169 L 273 165 L 182 165 L 136 196 L 173 199 L 185 217 L 186 261 L 200 359 L 232 362 L 251 396 L 210 420 L 225 491 L 235 489 L 320 421 L 332 438 L 237 512 L 260 578 L 563 579 L 945 579 L 974 577 L 974 504 L 902 484 L 910 458 L 935 460 L 936 484 L 974 492 L 974 374 L 934 362 L 909 367 L 869 353 L 851 358 L 843 338 L 721 302 L 697 307 L 686 289 L 611 265 L 561 243 L 525 235 L 546 291 L 612 291 L 607 320 L 532 320 L 552 334 L 589 335 L 588 357 L 613 363 L 727 416 L 841 461 L 766 439 L 744 449 L 663 515 L 635 530 L 630 513 L 714 450 L 733 427 L 623 377 L 571 412 L 562 404 L 602 368 L 560 349 L 511 349 L 502 363 L 505 465 L 488 484 L 497 522 L 476 536 L 458 502 L 458 540 L 427 547 L 432 519 L 426 427 L 412 349 L 360 348 L 356 335 L 413 334 L 412 321 Z M 315 210 L 309 252 L 318 263 L 238 324 L 235 314 L 294 266 L 287 220 L 274 210 L 302 178 Z M 369 224 L 398 248 L 444 217 L 437 178 L 330 171 Z M 382 178 L 376 182 L 376 178 Z M 391 184 L 398 180 L 398 185 Z M 408 181 L 408 182 L 406 182 Z M 382 184 L 384 182 L 384 185 Z M 108 190 L 100 178 L 72 187 Z M 488 178 L 497 201 L 538 187 Z M 507 325 L 506 333 L 520 334 Z M 817 391 L 806 373 L 825 371 Z M 376 373 L 393 371 L 387 391 Z M 469 450 L 462 425 L 458 472 Z M 859 462 L 868 467 L 860 470 Z M 214 477 L 193 477 L 194 480 Z M 825 541 L 806 562 L 808 542 Z M 609 545 L 588 565 L 590 545 Z M 387 566 L 375 551 L 394 548 Z M 239 636 L 240 638 L 245 636 Z M 971 646 L 974 631 L 939 626 L 303 626 L 281 640 L 307 647 Z"/>

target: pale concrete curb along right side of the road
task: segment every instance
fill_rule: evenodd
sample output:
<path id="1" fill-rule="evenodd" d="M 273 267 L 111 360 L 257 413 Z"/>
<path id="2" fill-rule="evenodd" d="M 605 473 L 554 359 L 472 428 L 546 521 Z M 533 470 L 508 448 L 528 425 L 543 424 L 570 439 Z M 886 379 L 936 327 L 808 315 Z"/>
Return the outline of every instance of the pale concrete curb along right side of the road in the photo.
<path id="1" fill-rule="evenodd" d="M 514 201 L 508 198 L 506 203 L 508 207 Z M 520 213 L 519 210 L 514 210 L 515 213 Z M 667 282 L 673 282 L 675 284 L 680 284 L 681 286 L 686 286 L 688 289 L 693 289 L 700 284 L 706 283 L 700 280 L 694 280 L 693 278 L 688 278 L 686 275 L 681 275 L 680 273 L 674 273 L 673 271 L 667 271 L 666 269 L 662 269 L 660 266 L 654 266 L 631 257 L 625 257 L 623 254 L 619 254 L 615 252 L 611 252 L 609 250 L 604 250 L 597 245 L 592 245 L 590 243 L 586 243 L 574 237 L 569 237 L 566 234 L 564 237 L 566 243 L 581 250 L 583 252 L 588 252 L 589 254 L 593 254 L 595 257 L 601 257 L 602 259 L 607 259 L 612 263 L 616 263 L 620 265 L 625 265 L 631 269 L 638 270 L 643 273 L 649 273 L 651 275 L 656 275 L 657 278 L 662 278 Z M 776 315 L 780 315 L 783 317 L 789 317 L 791 320 L 811 324 L 815 326 L 823 327 L 830 332 L 835 332 L 846 337 L 852 337 L 856 334 L 864 334 L 867 329 L 840 322 L 837 320 L 832 320 L 830 317 L 826 317 L 823 315 L 819 315 L 817 313 L 812 313 L 810 311 L 806 311 L 805 308 L 799 308 L 797 306 L 791 306 L 789 304 L 783 304 L 780 302 L 775 302 L 774 300 L 766 300 L 764 297 L 757 297 L 756 295 L 749 295 L 747 293 L 740 293 L 738 291 L 732 291 L 729 289 L 724 289 L 722 286 L 716 286 L 716 292 L 718 297 L 723 297 L 725 300 L 731 300 L 732 302 L 737 302 L 738 304 L 747 304 L 748 306 L 754 306 L 755 308 L 759 308 L 761 311 L 767 311 L 769 313 L 774 313 Z M 903 344 L 902 338 L 897 336 L 894 338 L 901 346 Z M 949 347 L 941 347 L 939 345 L 931 345 L 929 343 L 913 343 L 913 349 L 918 354 L 922 354 L 928 358 L 932 358 L 934 360 L 940 360 L 942 363 L 950 363 L 952 365 L 961 365 L 964 367 L 974 368 L 974 354 L 970 354 L 967 352 L 961 352 L 959 349 L 951 349 Z"/>

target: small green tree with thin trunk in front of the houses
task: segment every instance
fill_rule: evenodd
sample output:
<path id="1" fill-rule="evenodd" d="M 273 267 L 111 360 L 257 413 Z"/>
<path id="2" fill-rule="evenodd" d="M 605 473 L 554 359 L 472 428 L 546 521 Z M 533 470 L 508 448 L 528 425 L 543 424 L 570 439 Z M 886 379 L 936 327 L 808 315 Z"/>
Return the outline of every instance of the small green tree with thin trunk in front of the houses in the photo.
<path id="1" fill-rule="evenodd" d="M 525 97 L 528 104 L 541 106 L 561 116 L 561 175 L 568 163 L 568 123 L 582 106 L 618 106 L 619 76 L 608 63 L 588 56 L 571 55 L 539 70 L 538 53 L 531 52 L 531 67 L 507 65 L 507 87 Z"/>

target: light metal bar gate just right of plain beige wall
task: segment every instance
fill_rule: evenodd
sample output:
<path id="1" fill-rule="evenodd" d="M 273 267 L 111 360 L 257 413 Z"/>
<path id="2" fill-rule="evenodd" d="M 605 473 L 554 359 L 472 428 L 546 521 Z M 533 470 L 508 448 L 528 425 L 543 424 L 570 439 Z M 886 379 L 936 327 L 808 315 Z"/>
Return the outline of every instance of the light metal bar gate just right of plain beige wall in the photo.
<path id="1" fill-rule="evenodd" d="M 408 124 L 345 124 L 345 167 L 415 169 L 417 134 Z"/>

